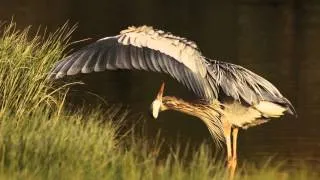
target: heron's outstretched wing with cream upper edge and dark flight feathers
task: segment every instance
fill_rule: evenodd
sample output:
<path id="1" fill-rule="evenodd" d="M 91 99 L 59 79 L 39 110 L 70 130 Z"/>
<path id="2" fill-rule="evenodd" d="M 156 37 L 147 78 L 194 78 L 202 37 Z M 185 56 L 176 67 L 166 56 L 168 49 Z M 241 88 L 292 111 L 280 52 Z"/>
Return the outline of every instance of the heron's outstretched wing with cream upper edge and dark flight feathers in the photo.
<path id="1" fill-rule="evenodd" d="M 74 52 L 54 66 L 50 77 L 117 69 L 166 73 L 202 99 L 217 96 L 205 79 L 207 64 L 197 45 L 148 26 L 130 27 Z"/>

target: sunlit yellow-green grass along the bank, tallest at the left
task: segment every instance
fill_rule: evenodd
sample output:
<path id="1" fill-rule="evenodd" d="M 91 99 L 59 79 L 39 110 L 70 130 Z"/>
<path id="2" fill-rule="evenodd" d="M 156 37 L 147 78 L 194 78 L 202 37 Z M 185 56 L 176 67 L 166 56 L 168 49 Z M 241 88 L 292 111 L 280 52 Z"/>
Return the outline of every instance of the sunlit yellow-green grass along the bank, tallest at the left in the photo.
<path id="1" fill-rule="evenodd" d="M 63 56 L 74 28 L 52 34 L 14 23 L 0 37 L 0 179 L 225 179 L 224 164 L 203 144 L 186 161 L 172 151 L 159 158 L 161 143 L 119 133 L 126 113 L 118 108 L 90 113 L 63 109 L 67 88 L 46 79 Z M 115 114 L 117 114 L 115 116 Z M 117 118 L 115 118 L 117 117 Z M 178 146 L 178 145 L 177 145 Z M 238 179 L 316 179 L 312 171 L 245 165 Z"/>

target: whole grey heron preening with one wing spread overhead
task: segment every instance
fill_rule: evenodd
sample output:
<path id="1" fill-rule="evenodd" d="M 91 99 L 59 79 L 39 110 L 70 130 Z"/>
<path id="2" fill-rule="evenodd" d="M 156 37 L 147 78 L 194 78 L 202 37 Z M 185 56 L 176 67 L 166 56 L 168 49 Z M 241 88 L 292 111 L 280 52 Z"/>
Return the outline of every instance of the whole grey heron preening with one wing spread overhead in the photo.
<path id="1" fill-rule="evenodd" d="M 296 115 L 290 101 L 265 78 L 240 65 L 207 58 L 195 42 L 146 25 L 128 27 L 70 54 L 54 65 L 50 78 L 119 69 L 164 73 L 193 92 L 195 102 L 163 96 L 162 83 L 151 103 L 152 116 L 175 110 L 202 120 L 213 140 L 225 143 L 232 173 L 239 129 Z"/>

